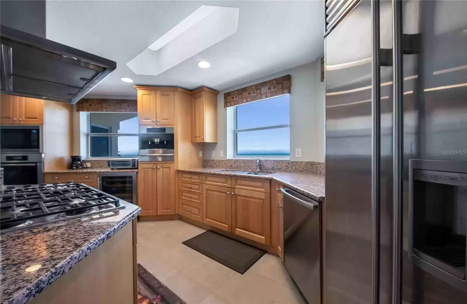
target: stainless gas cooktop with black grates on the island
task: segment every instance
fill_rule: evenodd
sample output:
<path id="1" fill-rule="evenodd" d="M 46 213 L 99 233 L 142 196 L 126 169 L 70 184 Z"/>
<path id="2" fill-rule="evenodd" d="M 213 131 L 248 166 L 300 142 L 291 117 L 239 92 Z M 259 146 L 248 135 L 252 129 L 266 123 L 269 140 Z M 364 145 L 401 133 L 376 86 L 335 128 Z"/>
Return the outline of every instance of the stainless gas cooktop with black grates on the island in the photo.
<path id="1" fill-rule="evenodd" d="M 119 198 L 71 181 L 8 186 L 1 191 L 0 233 L 78 217 L 109 217 L 124 208 Z"/>

